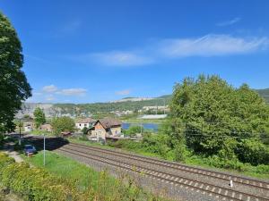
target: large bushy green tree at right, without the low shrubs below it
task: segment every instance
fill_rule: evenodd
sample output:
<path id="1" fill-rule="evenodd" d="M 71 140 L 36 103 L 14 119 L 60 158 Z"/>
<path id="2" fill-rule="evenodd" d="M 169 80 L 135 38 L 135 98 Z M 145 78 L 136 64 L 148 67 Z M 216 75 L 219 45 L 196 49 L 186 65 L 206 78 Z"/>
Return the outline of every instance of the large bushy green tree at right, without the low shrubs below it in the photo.
<path id="1" fill-rule="evenodd" d="M 247 163 L 253 163 L 253 156 L 244 153 L 258 150 L 250 147 L 262 143 L 269 127 L 265 100 L 246 84 L 233 88 L 218 76 L 201 75 L 197 80 L 187 78 L 176 84 L 170 110 L 171 140 L 182 141 L 183 137 L 195 153 L 228 159 L 236 156 Z M 262 155 L 269 155 L 260 150 Z"/>

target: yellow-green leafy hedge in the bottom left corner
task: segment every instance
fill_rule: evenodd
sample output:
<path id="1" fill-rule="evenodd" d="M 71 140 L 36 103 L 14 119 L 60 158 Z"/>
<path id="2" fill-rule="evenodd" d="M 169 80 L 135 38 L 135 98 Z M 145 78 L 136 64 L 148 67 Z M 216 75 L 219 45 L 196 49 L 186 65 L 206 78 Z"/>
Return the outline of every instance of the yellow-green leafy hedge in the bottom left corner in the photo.
<path id="1" fill-rule="evenodd" d="M 13 158 L 0 153 L 0 184 L 4 188 L 32 201 L 83 200 L 74 184 L 51 175 L 28 163 L 15 163 Z"/>

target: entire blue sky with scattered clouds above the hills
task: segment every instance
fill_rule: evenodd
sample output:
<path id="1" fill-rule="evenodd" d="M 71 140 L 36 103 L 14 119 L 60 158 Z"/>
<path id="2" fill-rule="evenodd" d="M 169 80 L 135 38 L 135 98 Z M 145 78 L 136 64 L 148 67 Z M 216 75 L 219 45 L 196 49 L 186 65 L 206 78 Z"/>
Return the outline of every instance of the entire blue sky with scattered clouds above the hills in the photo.
<path id="1" fill-rule="evenodd" d="M 218 74 L 269 88 L 269 1 L 20 1 L 0 10 L 22 41 L 30 102 L 170 94 Z"/>

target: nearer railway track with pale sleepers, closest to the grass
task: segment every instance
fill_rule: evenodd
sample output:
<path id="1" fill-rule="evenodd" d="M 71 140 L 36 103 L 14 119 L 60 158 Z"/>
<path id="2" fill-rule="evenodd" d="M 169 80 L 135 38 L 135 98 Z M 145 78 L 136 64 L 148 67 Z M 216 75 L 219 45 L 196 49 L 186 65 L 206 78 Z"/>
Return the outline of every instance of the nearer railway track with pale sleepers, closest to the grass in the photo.
<path id="1" fill-rule="evenodd" d="M 42 142 L 37 143 L 39 146 L 43 146 Z M 54 149 L 55 146 L 48 145 L 50 149 Z M 84 148 L 84 150 L 80 150 L 81 148 Z M 93 154 L 89 153 L 90 150 L 99 150 L 100 154 Z M 87 151 L 88 150 L 88 151 Z M 163 171 L 158 171 L 154 170 L 149 167 L 143 167 L 143 166 L 135 166 L 132 163 L 127 163 L 126 161 L 123 160 L 118 160 L 118 159 L 111 159 L 108 156 L 104 154 L 108 154 L 106 152 L 110 152 L 110 150 L 104 150 L 99 147 L 94 147 L 94 148 L 89 148 L 87 146 L 82 146 L 74 143 L 70 143 L 66 145 L 66 147 L 60 147 L 57 148 L 57 151 L 62 152 L 63 154 L 67 155 L 73 155 L 74 157 L 82 157 L 83 160 L 88 160 L 88 161 L 97 161 L 99 163 L 104 163 L 108 165 L 112 165 L 114 167 L 120 168 L 122 170 L 125 170 L 127 172 L 137 172 L 141 173 L 145 176 L 152 177 L 156 180 L 161 180 L 165 181 L 167 183 L 173 184 L 175 186 L 179 186 L 180 188 L 187 188 L 188 190 L 192 190 L 195 192 L 200 192 L 202 194 L 206 194 L 210 197 L 214 197 L 215 199 L 218 200 L 236 200 L 236 201 L 265 201 L 269 200 L 267 197 L 262 197 L 262 196 L 256 196 L 252 195 L 246 192 L 240 192 L 238 190 L 234 190 L 232 188 L 223 188 L 217 185 L 213 185 L 208 182 L 203 182 L 200 180 L 191 180 L 187 177 L 182 177 L 178 176 L 173 173 L 169 172 L 163 172 Z M 122 154 L 117 151 L 112 151 L 115 155 L 116 154 Z M 124 153 L 125 155 L 128 155 Z M 130 155 L 128 155 L 130 156 Z M 134 156 L 134 155 L 132 155 Z M 135 160 L 139 159 L 140 157 L 135 155 L 134 157 Z M 132 157 L 131 159 L 134 159 Z M 144 158 L 142 156 L 142 158 Z M 149 159 L 148 157 L 145 157 L 146 159 Z M 128 158 L 130 159 L 130 158 Z M 153 159 L 157 160 L 157 159 Z M 159 160 L 157 160 L 159 162 Z M 141 161 L 143 162 L 143 161 Z M 161 163 L 163 163 L 161 161 Z"/>

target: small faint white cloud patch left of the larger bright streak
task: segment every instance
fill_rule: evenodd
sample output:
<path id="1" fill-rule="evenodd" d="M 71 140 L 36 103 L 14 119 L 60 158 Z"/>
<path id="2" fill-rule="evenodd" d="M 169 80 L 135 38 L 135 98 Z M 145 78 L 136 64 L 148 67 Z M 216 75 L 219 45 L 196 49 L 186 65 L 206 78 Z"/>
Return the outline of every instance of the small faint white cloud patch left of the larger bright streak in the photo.
<path id="1" fill-rule="evenodd" d="M 151 57 L 125 51 L 85 54 L 80 56 L 83 62 L 93 61 L 106 66 L 140 66 L 153 63 Z"/>

